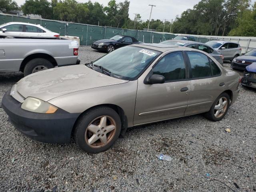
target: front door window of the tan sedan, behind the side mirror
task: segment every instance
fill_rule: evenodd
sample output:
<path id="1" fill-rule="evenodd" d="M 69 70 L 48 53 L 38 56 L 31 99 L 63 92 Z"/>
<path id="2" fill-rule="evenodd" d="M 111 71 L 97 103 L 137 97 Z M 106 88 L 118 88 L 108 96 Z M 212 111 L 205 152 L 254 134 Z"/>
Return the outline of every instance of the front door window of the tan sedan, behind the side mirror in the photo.
<path id="1" fill-rule="evenodd" d="M 153 68 L 153 74 L 164 76 L 166 82 L 186 79 L 182 52 L 173 52 L 164 56 Z"/>

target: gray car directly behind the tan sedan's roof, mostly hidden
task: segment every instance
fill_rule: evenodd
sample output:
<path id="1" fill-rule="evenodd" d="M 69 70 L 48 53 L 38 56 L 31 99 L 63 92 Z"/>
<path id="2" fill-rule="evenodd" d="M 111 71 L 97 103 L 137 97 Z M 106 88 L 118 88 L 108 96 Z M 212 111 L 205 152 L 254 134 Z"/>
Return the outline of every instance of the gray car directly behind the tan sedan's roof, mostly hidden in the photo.
<path id="1" fill-rule="evenodd" d="M 222 66 L 223 66 L 223 55 L 220 52 L 214 50 L 211 46 L 206 45 L 200 42 L 194 41 L 187 41 L 187 40 L 166 40 L 161 42 L 160 44 L 167 44 L 167 45 L 176 45 L 176 46 L 184 46 L 193 49 L 198 49 L 204 51 L 211 56 L 213 56 Z"/>

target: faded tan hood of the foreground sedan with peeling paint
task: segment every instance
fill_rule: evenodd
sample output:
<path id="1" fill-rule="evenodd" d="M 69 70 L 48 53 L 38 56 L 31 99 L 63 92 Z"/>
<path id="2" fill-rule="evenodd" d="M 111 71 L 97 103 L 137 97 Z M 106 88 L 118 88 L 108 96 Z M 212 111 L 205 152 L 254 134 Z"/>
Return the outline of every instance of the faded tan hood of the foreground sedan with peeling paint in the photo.
<path id="1" fill-rule="evenodd" d="M 63 66 L 30 74 L 17 83 L 24 97 L 44 101 L 76 91 L 128 82 L 99 73 L 85 65 Z"/>

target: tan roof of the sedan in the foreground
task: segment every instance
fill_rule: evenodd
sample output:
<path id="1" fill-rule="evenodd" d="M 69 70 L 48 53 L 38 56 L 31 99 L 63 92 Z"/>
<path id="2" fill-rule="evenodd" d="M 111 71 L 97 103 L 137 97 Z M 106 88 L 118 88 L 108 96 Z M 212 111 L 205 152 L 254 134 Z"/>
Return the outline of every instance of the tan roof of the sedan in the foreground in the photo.
<path id="1" fill-rule="evenodd" d="M 169 50 L 195 50 L 193 48 L 188 48 L 188 47 L 166 45 L 166 44 L 159 44 L 159 43 L 140 43 L 140 44 L 132 44 L 129 46 L 152 49 L 160 52 L 166 52 Z"/>

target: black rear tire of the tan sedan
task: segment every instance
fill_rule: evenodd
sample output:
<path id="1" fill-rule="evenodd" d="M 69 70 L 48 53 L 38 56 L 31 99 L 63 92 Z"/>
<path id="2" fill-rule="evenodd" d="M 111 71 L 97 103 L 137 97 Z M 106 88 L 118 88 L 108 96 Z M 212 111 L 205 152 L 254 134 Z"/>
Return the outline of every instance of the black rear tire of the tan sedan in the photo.
<path id="1" fill-rule="evenodd" d="M 220 102 L 221 98 L 222 98 L 222 101 L 226 101 L 226 105 L 223 105 L 222 107 L 220 105 L 220 107 L 221 107 L 220 111 L 222 111 L 222 112 L 224 111 L 224 112 L 223 113 L 220 112 L 218 114 L 217 109 L 215 107 L 219 106 L 219 104 L 220 104 L 219 102 Z M 220 121 L 228 112 L 229 105 L 230 105 L 230 97 L 227 93 L 224 92 L 224 93 L 220 94 L 220 96 L 218 96 L 218 98 L 212 104 L 210 111 L 206 112 L 204 116 L 211 121 Z M 216 114 L 218 114 L 218 115 L 216 115 Z"/>

